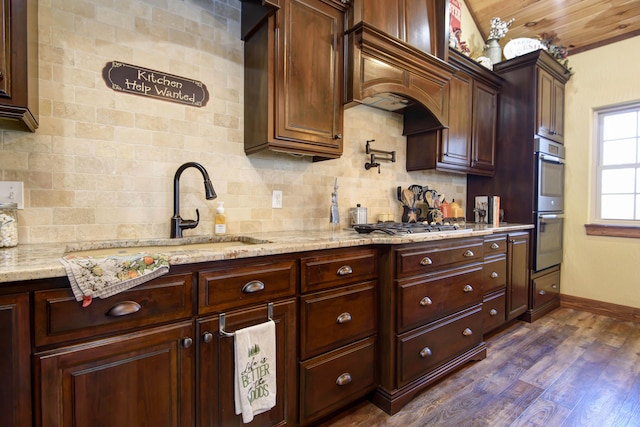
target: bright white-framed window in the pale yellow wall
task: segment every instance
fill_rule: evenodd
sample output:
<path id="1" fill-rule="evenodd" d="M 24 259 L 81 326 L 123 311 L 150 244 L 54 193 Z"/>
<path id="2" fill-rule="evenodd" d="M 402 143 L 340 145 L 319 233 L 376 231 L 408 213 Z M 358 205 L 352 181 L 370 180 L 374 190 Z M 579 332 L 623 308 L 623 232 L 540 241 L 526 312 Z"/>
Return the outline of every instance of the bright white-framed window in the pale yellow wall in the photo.
<path id="1" fill-rule="evenodd" d="M 596 112 L 595 220 L 640 226 L 640 103 Z"/>

